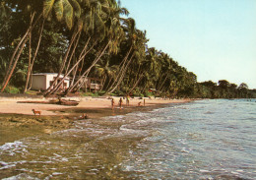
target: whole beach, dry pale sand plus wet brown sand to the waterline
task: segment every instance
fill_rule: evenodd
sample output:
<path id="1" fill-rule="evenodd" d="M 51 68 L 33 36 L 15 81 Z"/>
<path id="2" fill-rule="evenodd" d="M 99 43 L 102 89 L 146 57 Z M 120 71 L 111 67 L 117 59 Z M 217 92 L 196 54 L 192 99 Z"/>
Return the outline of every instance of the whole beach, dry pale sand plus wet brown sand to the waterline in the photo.
<path id="1" fill-rule="evenodd" d="M 113 97 L 115 104 L 118 104 L 120 97 Z M 119 109 L 115 105 L 111 109 L 111 99 L 108 97 L 66 97 L 66 99 L 80 100 L 78 106 L 58 105 L 58 104 L 38 104 L 38 103 L 17 103 L 23 100 L 51 100 L 42 98 L 12 98 L 0 97 L 0 146 L 5 143 L 14 142 L 23 138 L 51 134 L 56 131 L 70 129 L 74 127 L 74 122 L 83 120 L 80 118 L 86 113 L 88 120 L 96 121 L 101 117 L 125 115 L 135 111 L 148 111 L 171 103 L 187 103 L 193 99 L 149 99 L 146 98 L 145 106 L 137 106 L 143 99 L 131 98 L 130 105 L 124 105 Z M 143 102 L 142 102 L 143 105 Z M 41 115 L 34 116 L 32 109 L 40 110 Z"/>

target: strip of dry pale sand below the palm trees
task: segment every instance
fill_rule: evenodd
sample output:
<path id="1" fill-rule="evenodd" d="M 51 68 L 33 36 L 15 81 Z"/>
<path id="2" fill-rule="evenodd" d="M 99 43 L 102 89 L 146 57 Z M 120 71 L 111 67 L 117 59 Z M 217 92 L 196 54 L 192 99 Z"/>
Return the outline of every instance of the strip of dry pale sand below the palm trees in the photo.
<path id="1" fill-rule="evenodd" d="M 0 97 L 0 113 L 3 114 L 24 114 L 33 115 L 32 109 L 41 111 L 42 116 L 52 116 L 52 115 L 67 115 L 67 113 L 61 113 L 60 111 L 65 111 L 65 109 L 111 109 L 111 99 L 112 97 L 66 97 L 65 99 L 78 100 L 80 103 L 77 106 L 70 105 L 59 105 L 59 104 L 40 104 L 36 101 L 49 101 L 52 98 L 7 98 Z M 113 97 L 115 101 L 115 108 L 119 108 L 118 101 L 120 97 Z M 190 99 L 162 99 L 162 98 L 148 98 L 145 97 L 140 99 L 138 97 L 130 98 L 129 107 L 136 107 L 138 103 L 144 106 L 166 104 L 166 103 L 184 103 L 190 101 Z M 20 101 L 34 101 L 35 103 L 20 103 Z M 123 99 L 123 108 L 127 108 L 126 100 Z"/>

